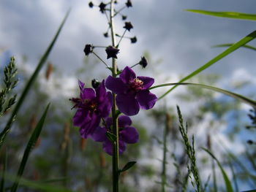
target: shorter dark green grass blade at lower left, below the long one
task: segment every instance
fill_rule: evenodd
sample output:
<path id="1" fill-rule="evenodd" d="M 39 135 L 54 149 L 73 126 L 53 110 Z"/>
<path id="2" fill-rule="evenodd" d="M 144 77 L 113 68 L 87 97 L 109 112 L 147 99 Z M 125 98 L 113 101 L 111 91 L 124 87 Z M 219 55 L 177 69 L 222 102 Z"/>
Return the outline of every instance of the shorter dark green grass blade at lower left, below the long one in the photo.
<path id="1" fill-rule="evenodd" d="M 17 174 L 17 177 L 15 179 L 15 183 L 12 185 L 11 192 L 17 191 L 20 177 L 22 176 L 23 171 L 24 171 L 25 166 L 26 166 L 26 162 L 29 159 L 29 154 L 31 153 L 31 150 L 34 147 L 35 143 L 37 142 L 39 134 L 42 131 L 42 126 L 45 123 L 45 118 L 46 118 L 49 107 L 50 107 L 50 104 L 48 104 L 48 106 L 46 107 L 45 112 L 43 113 L 42 117 L 40 118 L 39 122 L 37 123 L 36 128 L 34 128 L 34 131 L 33 131 L 32 135 L 29 139 L 29 142 L 26 146 L 25 152 L 23 154 L 23 158 L 22 158 L 21 163 L 20 163 L 20 167 L 18 169 L 18 174 Z"/>

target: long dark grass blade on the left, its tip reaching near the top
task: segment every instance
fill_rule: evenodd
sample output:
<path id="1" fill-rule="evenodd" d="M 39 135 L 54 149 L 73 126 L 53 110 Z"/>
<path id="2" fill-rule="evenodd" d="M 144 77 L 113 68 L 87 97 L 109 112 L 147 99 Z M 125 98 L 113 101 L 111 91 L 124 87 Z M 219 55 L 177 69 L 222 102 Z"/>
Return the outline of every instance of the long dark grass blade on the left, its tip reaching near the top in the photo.
<path id="1" fill-rule="evenodd" d="M 64 26 L 64 23 L 66 22 L 67 17 L 69 15 L 69 12 L 70 12 L 70 9 L 67 12 L 67 14 L 65 15 L 64 19 L 62 20 L 61 25 L 59 26 L 59 29 L 58 29 L 55 37 L 53 37 L 52 42 L 50 42 L 49 47 L 45 51 L 45 54 L 42 55 L 42 58 L 40 59 L 39 64 L 37 65 L 37 68 L 34 70 L 34 73 L 31 75 L 31 77 L 29 79 L 29 82 L 27 82 L 27 84 L 26 84 L 26 86 L 23 90 L 23 93 L 21 93 L 20 99 L 18 100 L 17 104 L 15 105 L 15 108 L 12 111 L 12 115 L 10 116 L 10 119 L 7 122 L 7 125 L 5 126 L 4 130 L 1 131 L 1 134 L 0 134 L 0 148 L 1 148 L 1 145 L 3 145 L 5 137 L 7 136 L 7 134 L 10 131 L 10 128 L 12 126 L 12 122 L 15 120 L 15 117 L 18 113 L 18 110 L 20 110 L 21 104 L 23 104 L 23 101 L 25 100 L 26 95 L 29 93 L 29 90 L 30 90 L 31 86 L 33 85 L 33 82 L 36 80 L 37 75 L 39 74 L 39 71 L 42 69 L 42 66 L 45 64 L 45 61 L 47 60 L 48 55 L 50 54 L 50 51 L 53 49 L 53 45 L 55 45 L 56 40 L 59 37 L 61 29 Z"/>

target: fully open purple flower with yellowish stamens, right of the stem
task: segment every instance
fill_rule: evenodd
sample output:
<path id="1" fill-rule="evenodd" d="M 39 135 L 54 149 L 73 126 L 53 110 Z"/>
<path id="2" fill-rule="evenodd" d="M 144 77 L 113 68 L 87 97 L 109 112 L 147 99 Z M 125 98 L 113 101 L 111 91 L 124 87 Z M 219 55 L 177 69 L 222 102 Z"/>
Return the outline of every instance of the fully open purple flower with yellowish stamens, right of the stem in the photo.
<path id="1" fill-rule="evenodd" d="M 153 85 L 151 77 L 136 77 L 135 72 L 129 66 L 125 67 L 120 77 L 108 76 L 106 88 L 116 93 L 118 110 L 125 115 L 136 115 L 140 108 L 148 110 L 154 107 L 157 96 L 148 91 Z"/>

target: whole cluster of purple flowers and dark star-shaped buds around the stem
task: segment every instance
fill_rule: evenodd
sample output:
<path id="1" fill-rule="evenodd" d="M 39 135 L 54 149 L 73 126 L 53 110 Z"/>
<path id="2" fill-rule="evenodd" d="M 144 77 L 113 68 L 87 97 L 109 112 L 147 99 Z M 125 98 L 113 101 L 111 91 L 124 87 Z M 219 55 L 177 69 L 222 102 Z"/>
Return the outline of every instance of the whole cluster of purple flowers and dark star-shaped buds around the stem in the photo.
<path id="1" fill-rule="evenodd" d="M 115 1 L 115 4 L 118 4 L 118 2 Z M 92 1 L 89 2 L 89 7 L 93 8 L 95 6 L 99 7 L 99 11 L 103 14 L 110 11 L 110 3 L 105 4 L 101 2 L 95 5 Z M 121 10 L 129 7 L 132 7 L 131 0 L 127 0 L 123 8 L 119 10 L 114 9 L 114 16 L 121 15 Z M 121 18 L 126 20 L 127 16 L 121 15 Z M 108 27 L 108 31 L 110 28 L 111 26 Z M 96 142 L 102 142 L 103 150 L 109 155 L 113 155 L 113 140 L 110 141 L 107 133 L 114 134 L 117 131 L 113 130 L 113 116 L 116 118 L 115 121 L 118 121 L 118 152 L 121 154 L 124 153 L 126 144 L 138 142 L 139 139 L 138 131 L 131 126 L 132 120 L 129 116 L 137 115 L 140 109 L 151 109 L 157 101 L 157 96 L 149 91 L 149 88 L 154 83 L 154 78 L 137 76 L 132 70 L 132 67 L 136 65 L 145 68 L 148 65 L 145 57 L 142 57 L 138 64 L 131 67 L 126 66 L 122 71 L 117 70 L 117 72 L 114 72 L 113 69 L 115 67 L 111 68 L 95 51 L 96 48 L 103 47 L 105 48 L 105 53 L 107 53 L 107 60 L 109 58 L 117 59 L 117 54 L 119 53 L 118 46 L 122 39 L 128 38 L 131 43 L 137 42 L 137 37 L 124 36 L 127 31 L 133 28 L 132 23 L 125 22 L 123 28 L 124 33 L 122 35 L 115 34 L 115 37 L 120 38 L 116 45 L 95 46 L 86 44 L 83 49 L 86 56 L 90 55 L 90 53 L 92 53 L 91 55 L 96 55 L 107 66 L 107 69 L 113 72 L 113 76 L 109 76 L 106 80 L 102 80 L 102 82 L 98 82 L 95 79 L 92 80 L 91 85 L 93 88 L 85 88 L 85 84 L 79 81 L 80 97 L 70 99 L 75 104 L 73 108 L 77 109 L 72 119 L 73 124 L 80 127 L 81 137 L 84 139 L 91 137 Z M 108 37 L 108 31 L 104 33 L 104 37 Z M 112 93 L 107 91 L 106 88 L 112 91 Z M 116 98 L 116 105 L 114 107 L 112 106 L 113 98 Z M 118 109 L 116 109 L 116 106 Z M 112 107 L 113 113 L 112 117 L 110 117 Z M 116 112 L 116 110 L 124 115 L 118 117 L 119 112 Z"/>

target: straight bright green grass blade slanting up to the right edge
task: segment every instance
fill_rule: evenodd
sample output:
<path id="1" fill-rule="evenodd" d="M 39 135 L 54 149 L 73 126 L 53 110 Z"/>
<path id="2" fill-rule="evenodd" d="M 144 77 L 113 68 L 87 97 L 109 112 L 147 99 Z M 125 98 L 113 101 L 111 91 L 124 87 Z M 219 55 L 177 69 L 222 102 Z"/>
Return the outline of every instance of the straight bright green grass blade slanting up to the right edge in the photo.
<path id="1" fill-rule="evenodd" d="M 242 38 L 241 40 L 239 40 L 232 46 L 228 47 L 227 50 L 220 53 L 219 55 L 217 55 L 217 57 L 211 59 L 211 61 L 208 61 L 203 66 L 200 66 L 198 69 L 196 69 L 194 72 L 192 72 L 191 74 L 189 74 L 186 77 L 184 77 L 183 79 L 181 79 L 179 82 L 184 82 L 186 80 L 189 80 L 191 77 L 194 77 L 196 74 L 203 72 L 203 70 L 207 69 L 209 66 L 215 64 L 217 61 L 221 60 L 225 56 L 227 56 L 230 53 L 232 53 L 233 51 L 237 50 L 239 47 L 246 45 L 246 43 L 252 41 L 252 39 L 255 39 L 255 37 L 256 37 L 256 31 L 253 31 L 251 34 L 248 34 L 246 37 Z M 170 91 L 173 91 L 173 89 L 175 89 L 177 86 L 178 85 L 175 85 L 173 88 L 170 88 L 170 90 L 168 90 L 166 93 L 164 93 L 162 96 L 160 96 L 159 99 L 162 99 L 164 96 L 166 96 L 168 93 L 170 93 Z"/>

